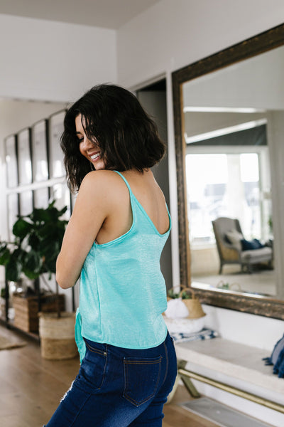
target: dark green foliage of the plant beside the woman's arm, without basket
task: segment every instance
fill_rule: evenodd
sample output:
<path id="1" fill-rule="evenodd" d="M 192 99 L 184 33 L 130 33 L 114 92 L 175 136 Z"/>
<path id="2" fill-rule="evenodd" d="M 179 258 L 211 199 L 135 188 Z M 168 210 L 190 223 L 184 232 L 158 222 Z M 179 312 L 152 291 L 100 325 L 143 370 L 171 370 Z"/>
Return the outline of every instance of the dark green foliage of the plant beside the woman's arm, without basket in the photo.
<path id="1" fill-rule="evenodd" d="M 43 273 L 50 277 L 55 273 L 67 225 L 60 217 L 66 211 L 67 206 L 58 210 L 52 201 L 46 209 L 33 209 L 31 214 L 19 216 L 13 224 L 13 241 L 0 242 L 0 265 L 5 266 L 6 280 L 18 282 L 22 275 L 37 279 Z"/>

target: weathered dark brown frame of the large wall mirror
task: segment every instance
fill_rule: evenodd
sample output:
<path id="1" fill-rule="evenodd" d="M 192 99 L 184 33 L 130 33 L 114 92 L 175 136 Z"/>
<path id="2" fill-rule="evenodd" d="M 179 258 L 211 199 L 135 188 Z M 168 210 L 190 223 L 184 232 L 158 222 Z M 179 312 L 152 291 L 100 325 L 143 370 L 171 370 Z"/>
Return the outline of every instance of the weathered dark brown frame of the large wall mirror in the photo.
<path id="1" fill-rule="evenodd" d="M 271 28 L 257 36 L 238 43 L 224 51 L 215 53 L 191 65 L 187 65 L 172 74 L 173 108 L 175 124 L 175 154 L 178 181 L 178 226 L 180 248 L 180 285 L 190 285 L 190 243 L 187 223 L 187 196 L 185 185 L 185 143 L 182 132 L 182 83 L 219 70 L 241 60 L 251 58 L 273 48 L 284 45 L 284 24 Z M 284 285 L 284 284 L 283 284 Z M 204 304 L 238 310 L 254 315 L 284 320 L 284 301 L 231 292 L 228 290 L 201 290 L 195 288 L 195 294 Z"/>

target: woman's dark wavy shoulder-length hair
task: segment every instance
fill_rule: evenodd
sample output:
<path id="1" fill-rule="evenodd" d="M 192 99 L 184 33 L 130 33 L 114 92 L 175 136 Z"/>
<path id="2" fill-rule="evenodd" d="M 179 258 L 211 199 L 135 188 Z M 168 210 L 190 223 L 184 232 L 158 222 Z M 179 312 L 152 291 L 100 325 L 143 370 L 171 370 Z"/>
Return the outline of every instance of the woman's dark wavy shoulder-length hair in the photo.
<path id="1" fill-rule="evenodd" d="M 123 172 L 153 167 L 165 154 L 155 122 L 133 93 L 116 85 L 97 85 L 67 110 L 60 145 L 65 154 L 68 186 L 77 191 L 84 176 L 94 170 L 79 150 L 75 118 L 89 140 L 99 145 L 106 169 Z"/>

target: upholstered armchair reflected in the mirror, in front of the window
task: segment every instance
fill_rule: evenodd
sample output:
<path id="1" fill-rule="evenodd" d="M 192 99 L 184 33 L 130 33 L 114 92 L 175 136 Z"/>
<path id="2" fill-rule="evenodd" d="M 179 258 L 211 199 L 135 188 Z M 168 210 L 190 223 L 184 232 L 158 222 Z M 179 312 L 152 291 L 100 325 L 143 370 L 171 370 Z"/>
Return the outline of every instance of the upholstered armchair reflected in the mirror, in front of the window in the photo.
<path id="1" fill-rule="evenodd" d="M 240 264 L 241 270 L 247 268 L 251 272 L 251 265 L 268 262 L 272 265 L 273 250 L 271 247 L 253 249 L 250 251 L 242 251 L 241 244 L 231 243 L 227 235 L 236 232 L 240 238 L 244 238 L 241 231 L 241 226 L 238 219 L 233 218 L 217 218 L 212 221 L 214 235 L 216 238 L 217 249 L 220 258 L 219 274 L 222 273 L 224 264 Z"/>

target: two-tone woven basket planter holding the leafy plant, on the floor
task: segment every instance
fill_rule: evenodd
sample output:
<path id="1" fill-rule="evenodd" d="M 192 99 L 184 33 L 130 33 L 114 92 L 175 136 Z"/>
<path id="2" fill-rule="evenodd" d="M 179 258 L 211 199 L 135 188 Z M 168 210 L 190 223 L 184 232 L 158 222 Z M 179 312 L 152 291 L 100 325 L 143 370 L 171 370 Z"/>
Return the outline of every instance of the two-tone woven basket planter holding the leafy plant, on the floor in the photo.
<path id="1" fill-rule="evenodd" d="M 78 355 L 75 343 L 75 313 L 39 314 L 40 352 L 43 359 L 72 359 Z"/>

